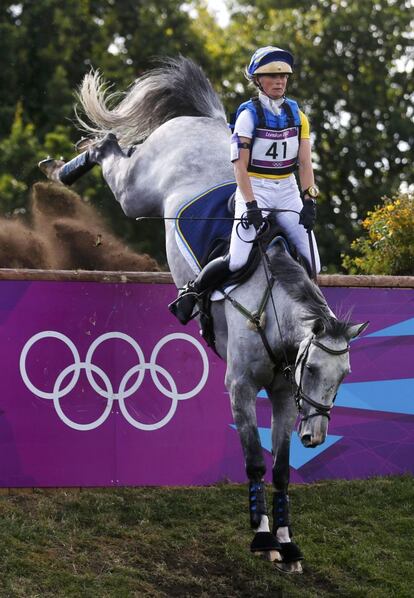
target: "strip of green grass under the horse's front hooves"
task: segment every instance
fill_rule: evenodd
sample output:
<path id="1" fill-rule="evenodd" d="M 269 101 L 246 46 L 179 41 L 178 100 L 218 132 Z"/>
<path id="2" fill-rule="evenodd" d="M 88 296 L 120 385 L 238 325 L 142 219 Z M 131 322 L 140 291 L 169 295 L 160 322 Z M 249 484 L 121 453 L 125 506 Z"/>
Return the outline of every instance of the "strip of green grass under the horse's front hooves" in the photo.
<path id="1" fill-rule="evenodd" d="M 292 486 L 301 576 L 250 554 L 245 486 L 0 496 L 0 596 L 408 597 L 413 495 L 411 476 Z"/>

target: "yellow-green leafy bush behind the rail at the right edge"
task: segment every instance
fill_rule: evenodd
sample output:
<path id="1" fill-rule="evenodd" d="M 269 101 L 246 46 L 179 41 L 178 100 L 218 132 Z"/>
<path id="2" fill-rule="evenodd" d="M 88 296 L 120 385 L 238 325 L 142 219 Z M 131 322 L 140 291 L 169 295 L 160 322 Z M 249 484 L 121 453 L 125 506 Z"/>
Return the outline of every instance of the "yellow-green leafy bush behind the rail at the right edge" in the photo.
<path id="1" fill-rule="evenodd" d="M 414 195 L 384 198 L 362 226 L 365 234 L 353 241 L 351 255 L 343 256 L 350 274 L 414 276 Z"/>

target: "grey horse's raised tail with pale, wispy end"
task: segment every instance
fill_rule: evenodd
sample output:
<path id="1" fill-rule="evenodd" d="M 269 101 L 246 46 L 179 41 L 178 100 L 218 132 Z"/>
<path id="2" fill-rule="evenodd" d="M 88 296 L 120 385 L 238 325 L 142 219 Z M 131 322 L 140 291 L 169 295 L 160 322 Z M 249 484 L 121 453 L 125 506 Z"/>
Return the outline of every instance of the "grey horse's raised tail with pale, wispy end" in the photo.
<path id="1" fill-rule="evenodd" d="M 99 71 L 85 75 L 78 99 L 86 120 L 75 109 L 76 117 L 88 135 L 101 138 L 111 132 L 121 145 L 143 141 L 177 116 L 226 122 L 223 105 L 203 70 L 183 56 L 160 61 L 159 67 L 139 77 L 125 93 L 108 91 Z"/>

